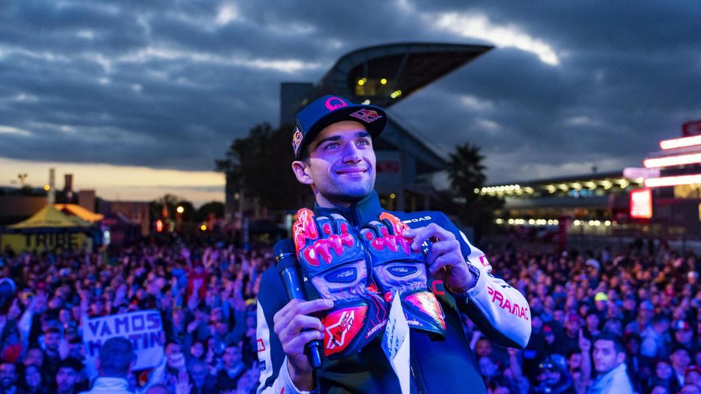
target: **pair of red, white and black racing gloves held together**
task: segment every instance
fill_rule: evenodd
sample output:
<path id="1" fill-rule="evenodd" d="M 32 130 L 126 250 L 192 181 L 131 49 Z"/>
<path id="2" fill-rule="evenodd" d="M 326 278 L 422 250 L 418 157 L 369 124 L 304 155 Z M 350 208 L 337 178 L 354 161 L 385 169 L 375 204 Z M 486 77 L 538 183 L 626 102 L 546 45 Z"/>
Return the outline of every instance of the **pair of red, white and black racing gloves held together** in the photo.
<path id="1" fill-rule="evenodd" d="M 297 258 L 316 294 L 334 301 L 322 317 L 324 353 L 332 360 L 360 351 L 388 321 L 389 306 L 399 294 L 409 327 L 445 334 L 443 310 L 427 287 L 426 255 L 411 249 L 407 224 L 382 212 L 360 231 L 341 215 L 315 217 L 297 212 L 292 228 Z"/>

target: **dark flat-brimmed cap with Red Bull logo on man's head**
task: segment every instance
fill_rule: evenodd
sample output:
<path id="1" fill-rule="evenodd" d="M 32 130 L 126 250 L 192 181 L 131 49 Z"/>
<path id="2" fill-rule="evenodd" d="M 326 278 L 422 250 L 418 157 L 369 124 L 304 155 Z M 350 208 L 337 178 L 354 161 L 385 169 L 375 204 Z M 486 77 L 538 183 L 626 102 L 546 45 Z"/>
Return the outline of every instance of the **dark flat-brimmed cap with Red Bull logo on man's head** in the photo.
<path id="1" fill-rule="evenodd" d="M 306 144 L 314 140 L 317 133 L 327 125 L 340 121 L 358 121 L 375 138 L 387 125 L 387 114 L 380 107 L 354 104 L 344 97 L 320 97 L 297 112 L 297 125 L 292 134 L 294 157 L 301 158 Z"/>

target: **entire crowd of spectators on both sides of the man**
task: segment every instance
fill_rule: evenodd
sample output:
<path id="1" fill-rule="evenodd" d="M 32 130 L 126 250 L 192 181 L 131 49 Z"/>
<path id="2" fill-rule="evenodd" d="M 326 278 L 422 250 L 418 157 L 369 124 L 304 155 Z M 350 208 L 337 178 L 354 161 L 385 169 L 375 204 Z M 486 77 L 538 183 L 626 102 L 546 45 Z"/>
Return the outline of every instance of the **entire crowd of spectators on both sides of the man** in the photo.
<path id="1" fill-rule="evenodd" d="M 640 394 L 701 393 L 694 254 L 664 245 L 484 252 L 494 273 L 526 295 L 533 326 L 518 351 L 492 344 L 463 319 L 490 393 L 583 394 L 615 368 L 625 368 Z M 95 376 L 86 368 L 81 322 L 147 309 L 161 313 L 165 357 L 130 372 L 129 390 L 254 393 L 256 298 L 272 263 L 268 248 L 180 240 L 112 252 L 5 251 L 0 278 L 12 278 L 16 289 L 0 313 L 0 393 L 89 390 Z"/>

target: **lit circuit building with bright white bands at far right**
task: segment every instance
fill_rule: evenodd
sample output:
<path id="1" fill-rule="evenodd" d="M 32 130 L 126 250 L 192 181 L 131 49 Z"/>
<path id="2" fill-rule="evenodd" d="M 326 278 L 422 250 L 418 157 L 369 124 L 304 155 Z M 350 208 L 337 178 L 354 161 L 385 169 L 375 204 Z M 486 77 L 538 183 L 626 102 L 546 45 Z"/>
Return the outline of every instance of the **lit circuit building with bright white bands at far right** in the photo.
<path id="1" fill-rule="evenodd" d="M 694 240 L 701 235 L 701 121 L 660 142 L 644 168 L 491 184 L 496 224 L 529 239 L 620 236 Z"/>

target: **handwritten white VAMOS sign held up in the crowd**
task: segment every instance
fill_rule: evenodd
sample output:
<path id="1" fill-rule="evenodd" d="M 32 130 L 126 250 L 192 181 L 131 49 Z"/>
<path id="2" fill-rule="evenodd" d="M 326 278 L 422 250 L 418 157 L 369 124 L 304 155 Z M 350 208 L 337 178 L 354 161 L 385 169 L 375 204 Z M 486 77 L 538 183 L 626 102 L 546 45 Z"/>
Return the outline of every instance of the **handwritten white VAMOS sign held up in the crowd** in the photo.
<path id="1" fill-rule="evenodd" d="M 165 333 L 161 313 L 158 311 L 137 311 L 88 319 L 83 324 L 86 365 L 95 365 L 102 344 L 112 337 L 125 337 L 132 341 L 137 355 L 135 370 L 155 367 L 163 360 Z"/>

